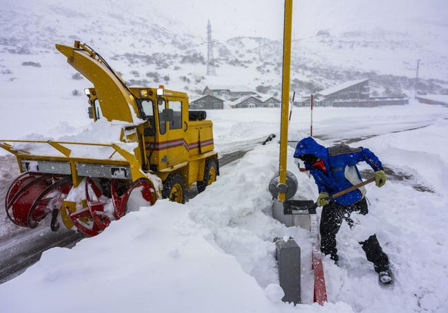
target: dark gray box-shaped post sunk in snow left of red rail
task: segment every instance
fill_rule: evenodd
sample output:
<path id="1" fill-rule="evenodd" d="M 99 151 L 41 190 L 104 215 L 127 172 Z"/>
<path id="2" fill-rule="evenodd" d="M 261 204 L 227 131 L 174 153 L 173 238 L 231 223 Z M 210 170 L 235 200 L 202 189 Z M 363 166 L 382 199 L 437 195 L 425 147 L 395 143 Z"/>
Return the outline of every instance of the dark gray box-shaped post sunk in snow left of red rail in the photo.
<path id="1" fill-rule="evenodd" d="M 278 263 L 278 278 L 285 292 L 283 302 L 301 303 L 301 248 L 294 239 L 283 241 L 274 239 L 276 244 L 276 259 Z"/>

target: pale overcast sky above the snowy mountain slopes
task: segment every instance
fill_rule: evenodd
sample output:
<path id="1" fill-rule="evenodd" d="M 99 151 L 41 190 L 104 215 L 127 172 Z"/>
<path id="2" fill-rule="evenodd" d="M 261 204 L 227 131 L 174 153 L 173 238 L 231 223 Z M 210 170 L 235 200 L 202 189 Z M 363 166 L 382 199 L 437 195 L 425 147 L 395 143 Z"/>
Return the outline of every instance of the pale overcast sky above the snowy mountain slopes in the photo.
<path id="1" fill-rule="evenodd" d="M 210 19 L 216 39 L 239 35 L 281 39 L 283 5 L 283 0 L 168 0 L 157 7 L 170 10 L 196 34 L 205 34 Z M 445 23 L 448 28 L 448 0 L 294 0 L 293 19 L 296 38 L 320 29 L 414 31 L 408 22 L 416 19 Z"/>

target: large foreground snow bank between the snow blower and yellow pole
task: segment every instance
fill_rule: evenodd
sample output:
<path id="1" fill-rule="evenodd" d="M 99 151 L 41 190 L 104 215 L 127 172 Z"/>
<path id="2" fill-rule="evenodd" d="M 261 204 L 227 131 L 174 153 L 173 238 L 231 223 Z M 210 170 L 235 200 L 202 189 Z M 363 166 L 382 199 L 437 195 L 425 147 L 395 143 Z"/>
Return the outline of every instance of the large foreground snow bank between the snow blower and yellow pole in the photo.
<path id="1" fill-rule="evenodd" d="M 51 294 L 57 303 L 70 303 L 69 312 L 87 307 L 91 312 L 294 310 L 280 301 L 272 239 L 301 238 L 309 276 L 309 234 L 287 229 L 268 214 L 267 183 L 276 171 L 277 150 L 273 143 L 248 153 L 185 206 L 161 200 L 112 222 L 102 235 L 83 239 L 72 250 L 44 252 L 24 274 L 0 285 L 3 309 L 59 312 Z M 311 186 L 307 182 L 301 190 L 312 194 Z M 321 310 L 318 305 L 303 309 Z M 338 303 L 325 311 L 350 309 Z"/>

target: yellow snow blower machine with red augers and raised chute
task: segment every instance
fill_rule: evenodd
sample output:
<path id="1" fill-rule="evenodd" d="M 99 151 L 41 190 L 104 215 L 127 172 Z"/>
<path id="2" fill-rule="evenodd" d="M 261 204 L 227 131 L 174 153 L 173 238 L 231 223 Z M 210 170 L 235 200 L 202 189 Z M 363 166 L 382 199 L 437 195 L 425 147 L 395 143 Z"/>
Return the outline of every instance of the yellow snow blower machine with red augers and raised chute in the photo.
<path id="1" fill-rule="evenodd" d="M 196 184 L 201 192 L 216 180 L 212 121 L 205 120 L 205 111 L 189 111 L 187 94 L 163 86 L 128 87 L 79 41 L 56 48 L 94 85 L 85 89 L 90 118 L 118 122 L 121 135 L 110 144 L 0 140 L 22 173 L 6 194 L 14 224 L 34 228 L 51 213 L 52 230 L 61 218 L 67 228 L 94 236 L 125 215 L 130 199 L 185 203 L 187 188 Z"/>

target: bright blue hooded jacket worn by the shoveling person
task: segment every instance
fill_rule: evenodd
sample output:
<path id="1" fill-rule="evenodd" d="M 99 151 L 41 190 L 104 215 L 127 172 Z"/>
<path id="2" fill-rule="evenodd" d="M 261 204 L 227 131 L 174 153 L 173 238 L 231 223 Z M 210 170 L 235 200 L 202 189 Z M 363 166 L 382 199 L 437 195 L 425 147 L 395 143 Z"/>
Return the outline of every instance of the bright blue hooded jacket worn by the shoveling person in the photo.
<path id="1" fill-rule="evenodd" d="M 309 170 L 313 175 L 319 193 L 324 192 L 329 195 L 334 195 L 334 193 L 338 193 L 339 191 L 343 191 L 353 186 L 353 184 L 347 180 L 345 175 L 347 169 L 349 169 L 347 166 L 354 166 L 359 180 L 361 180 L 361 175 L 356 167 L 358 162 L 367 162 L 374 171 L 383 169 L 380 160 L 378 160 L 376 155 L 369 149 L 363 147 L 350 148 L 346 145 L 325 148 L 311 137 L 303 138 L 297 143 L 294 158 L 299 158 L 304 154 L 314 154 L 323 160 L 328 175 L 320 169 L 314 169 L 311 164 L 307 164 L 306 162 L 305 169 Z M 337 197 L 336 199 L 332 199 L 331 201 L 347 206 L 358 202 L 362 198 L 363 194 L 359 189 L 356 189 Z"/>

